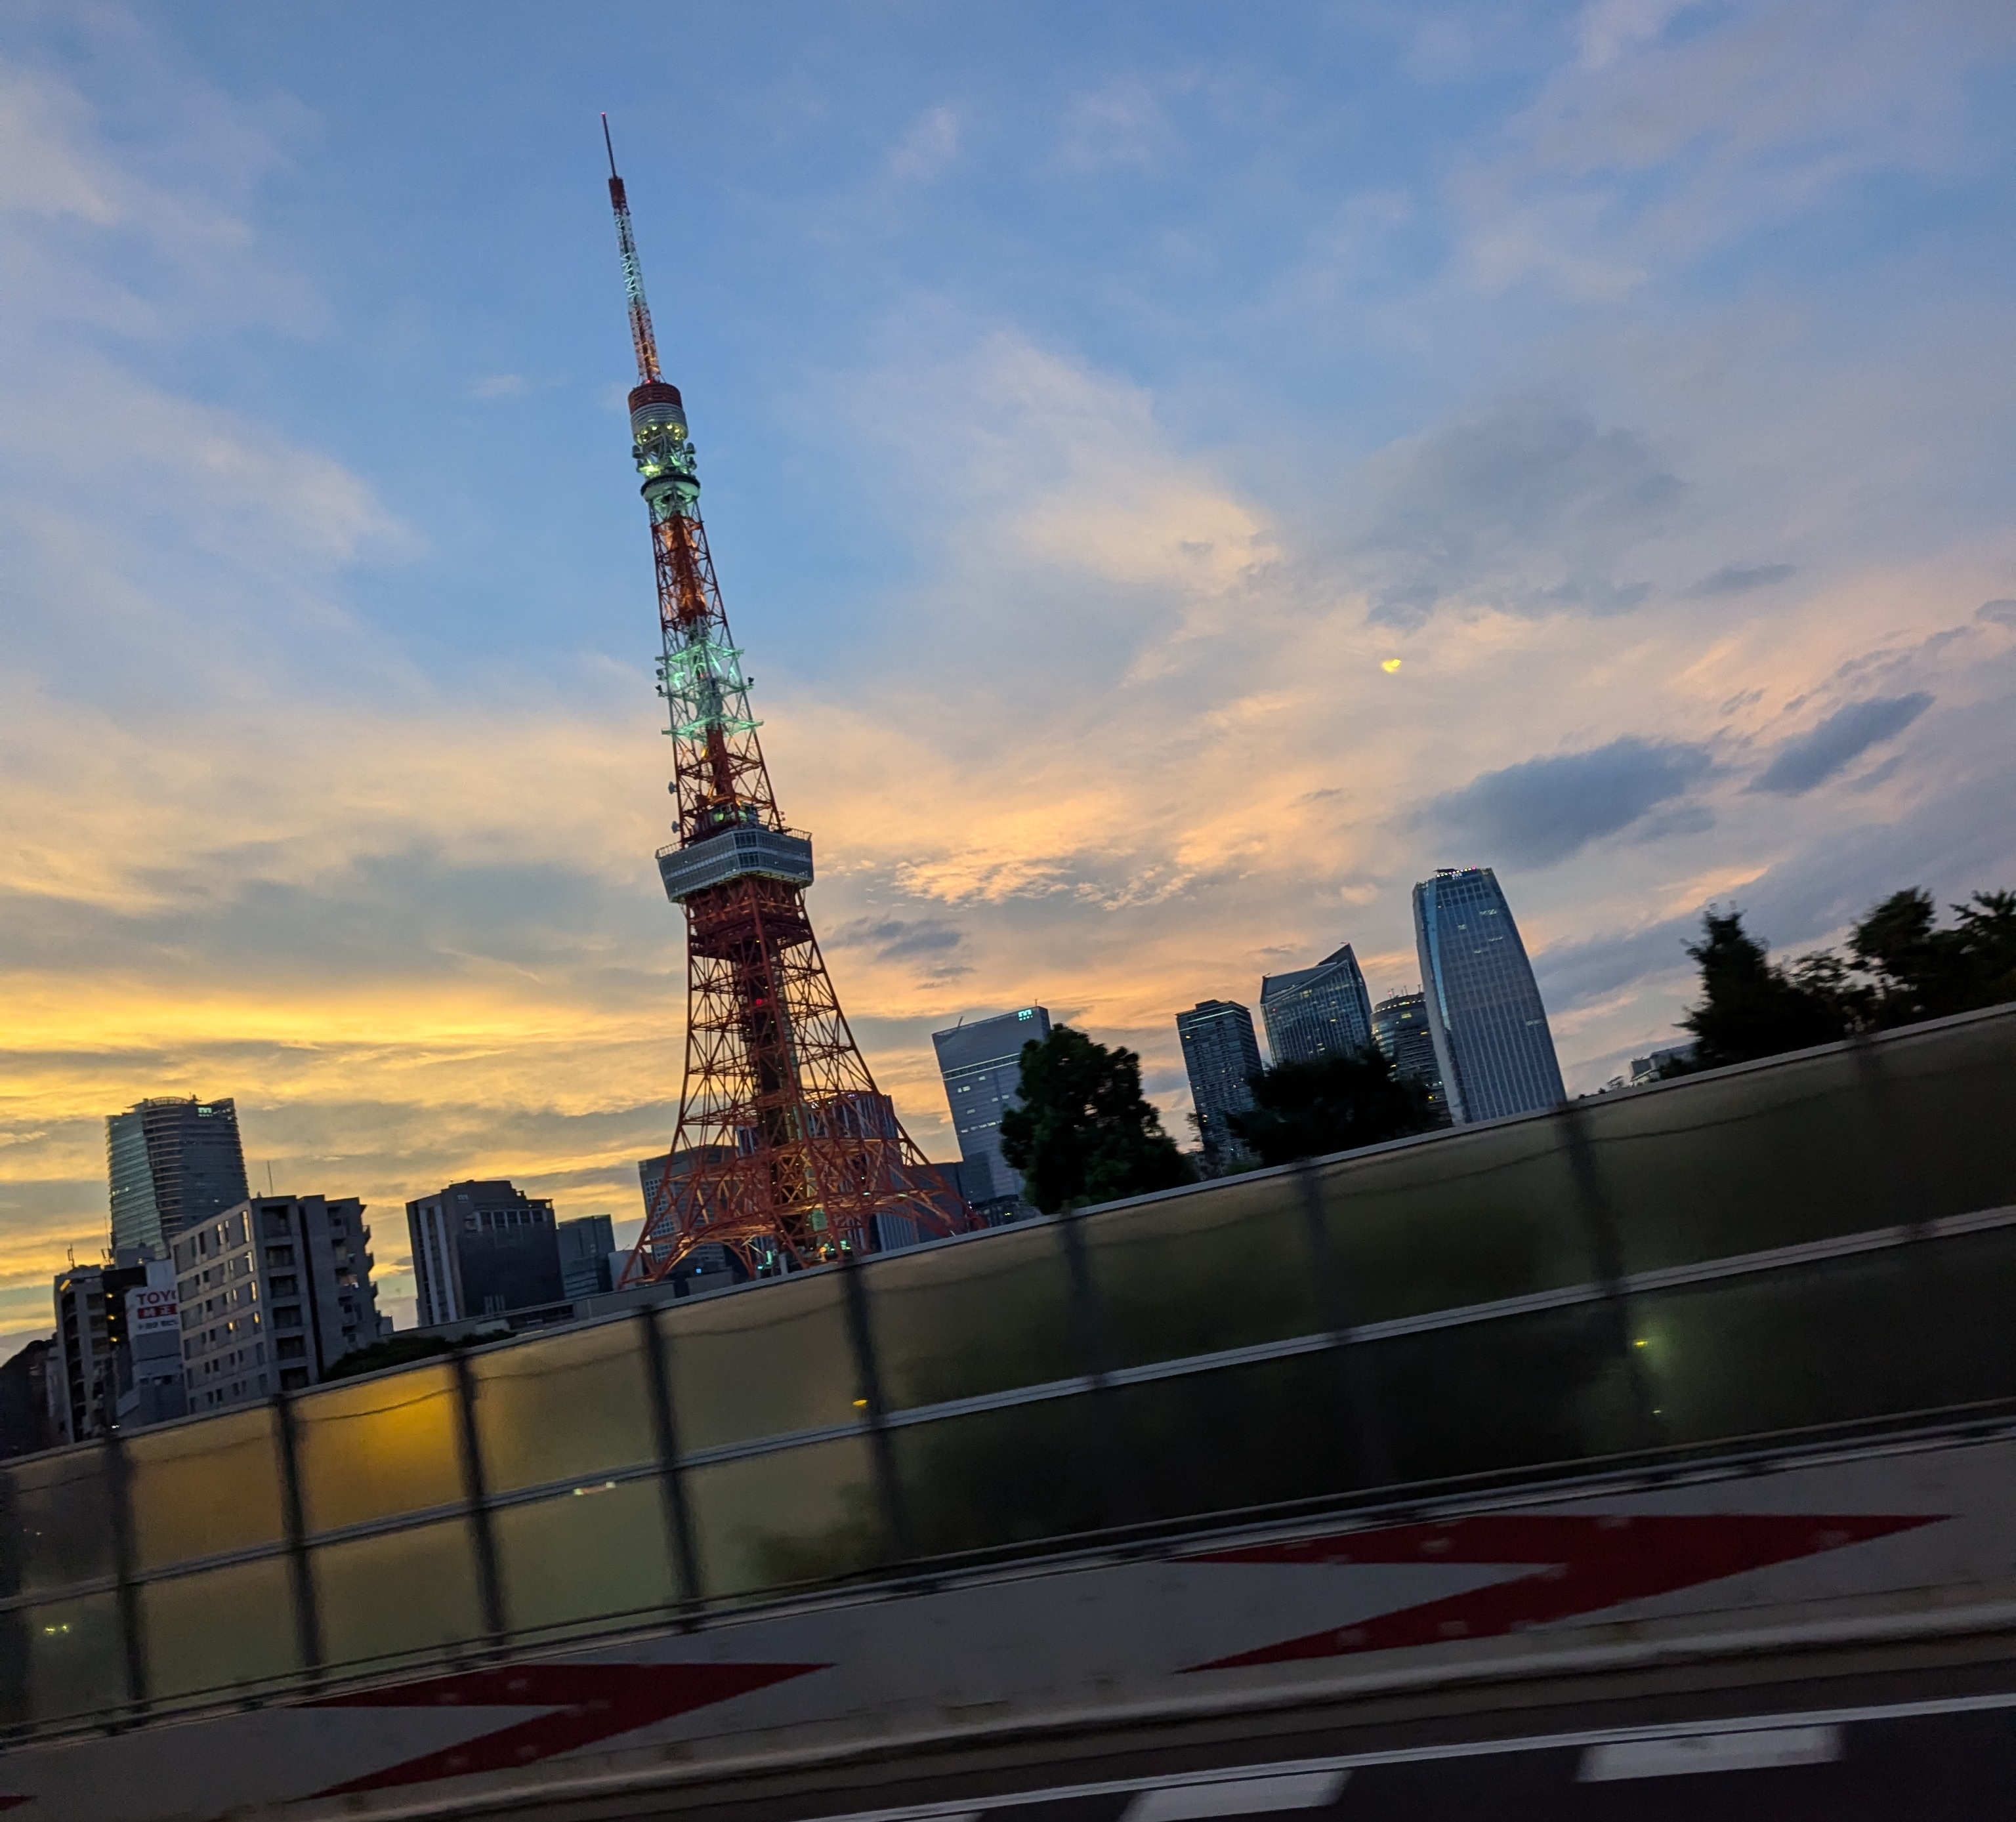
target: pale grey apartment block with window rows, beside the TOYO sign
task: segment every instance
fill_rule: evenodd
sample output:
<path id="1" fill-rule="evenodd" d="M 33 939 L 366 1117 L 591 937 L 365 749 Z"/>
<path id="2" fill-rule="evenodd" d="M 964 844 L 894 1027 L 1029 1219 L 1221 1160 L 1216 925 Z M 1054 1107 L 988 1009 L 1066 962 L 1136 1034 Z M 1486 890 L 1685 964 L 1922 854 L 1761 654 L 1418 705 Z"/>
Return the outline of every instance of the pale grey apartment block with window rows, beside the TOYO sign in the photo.
<path id="1" fill-rule="evenodd" d="M 355 1195 L 262 1195 L 175 1235 L 190 1411 L 321 1385 L 391 1332 Z"/>

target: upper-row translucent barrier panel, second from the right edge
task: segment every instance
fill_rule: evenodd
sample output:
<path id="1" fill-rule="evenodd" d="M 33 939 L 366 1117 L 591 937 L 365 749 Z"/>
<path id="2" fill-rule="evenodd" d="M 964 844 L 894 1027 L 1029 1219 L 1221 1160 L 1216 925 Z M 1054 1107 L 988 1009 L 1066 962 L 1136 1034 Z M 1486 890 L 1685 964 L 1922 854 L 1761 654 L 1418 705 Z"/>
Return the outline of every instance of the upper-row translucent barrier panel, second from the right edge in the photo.
<path id="1" fill-rule="evenodd" d="M 1583 1102 L 1625 1272 L 1800 1246 L 1903 1219 L 1869 1084 L 1831 1050 Z"/>

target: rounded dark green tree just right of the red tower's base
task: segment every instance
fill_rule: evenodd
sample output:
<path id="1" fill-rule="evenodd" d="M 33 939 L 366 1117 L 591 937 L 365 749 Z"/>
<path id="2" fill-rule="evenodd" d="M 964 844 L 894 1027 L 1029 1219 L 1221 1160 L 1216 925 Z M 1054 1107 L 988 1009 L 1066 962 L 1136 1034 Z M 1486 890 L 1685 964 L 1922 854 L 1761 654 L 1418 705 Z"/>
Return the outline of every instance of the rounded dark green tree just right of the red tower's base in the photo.
<path id="1" fill-rule="evenodd" d="M 1022 1046 L 1016 1104 L 1002 1111 L 1002 1157 L 1046 1215 L 1193 1177 L 1141 1094 L 1141 1058 L 1070 1026 Z"/>

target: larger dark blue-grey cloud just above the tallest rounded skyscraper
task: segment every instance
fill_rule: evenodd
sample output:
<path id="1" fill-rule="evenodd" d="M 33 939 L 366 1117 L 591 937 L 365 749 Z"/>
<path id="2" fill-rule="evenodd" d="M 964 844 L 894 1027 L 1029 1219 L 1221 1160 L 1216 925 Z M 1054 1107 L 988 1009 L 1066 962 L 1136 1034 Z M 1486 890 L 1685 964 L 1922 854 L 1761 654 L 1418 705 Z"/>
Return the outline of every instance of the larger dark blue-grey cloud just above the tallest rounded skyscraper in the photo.
<path id="1" fill-rule="evenodd" d="M 1625 736 L 1581 754 L 1522 760 L 1433 798 L 1415 820 L 1490 863 L 1552 867 L 1685 796 L 1714 762 L 1706 746 Z M 1681 822 L 1661 832 L 1702 826 Z"/>

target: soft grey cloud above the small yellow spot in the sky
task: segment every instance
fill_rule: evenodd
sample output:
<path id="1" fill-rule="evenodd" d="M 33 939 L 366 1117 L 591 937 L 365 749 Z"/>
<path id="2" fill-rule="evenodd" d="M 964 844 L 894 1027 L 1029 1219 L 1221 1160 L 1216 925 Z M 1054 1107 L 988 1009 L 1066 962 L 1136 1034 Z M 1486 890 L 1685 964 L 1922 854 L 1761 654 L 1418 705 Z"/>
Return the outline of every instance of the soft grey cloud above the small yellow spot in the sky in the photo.
<path id="1" fill-rule="evenodd" d="M 1359 560 L 1373 619 L 1399 627 L 1443 605 L 1637 607 L 1649 584 L 1617 572 L 1675 520 L 1687 492 L 1635 431 L 1546 399 L 1395 443 L 1373 482 L 1379 504 Z"/>

